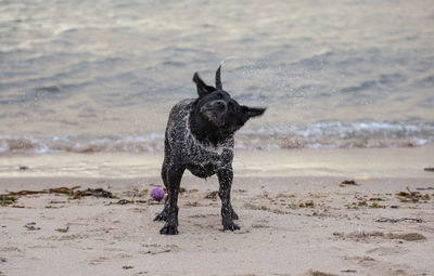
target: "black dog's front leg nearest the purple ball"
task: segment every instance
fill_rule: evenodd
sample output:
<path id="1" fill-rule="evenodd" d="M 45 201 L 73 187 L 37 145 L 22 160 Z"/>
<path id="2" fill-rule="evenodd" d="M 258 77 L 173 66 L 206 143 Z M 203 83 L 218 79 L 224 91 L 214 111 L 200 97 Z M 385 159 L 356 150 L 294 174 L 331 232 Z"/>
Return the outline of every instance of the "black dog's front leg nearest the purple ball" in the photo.
<path id="1" fill-rule="evenodd" d="M 168 168 L 167 170 L 167 221 L 161 234 L 177 235 L 178 234 L 178 194 L 179 184 L 181 183 L 182 174 L 186 168 Z"/>

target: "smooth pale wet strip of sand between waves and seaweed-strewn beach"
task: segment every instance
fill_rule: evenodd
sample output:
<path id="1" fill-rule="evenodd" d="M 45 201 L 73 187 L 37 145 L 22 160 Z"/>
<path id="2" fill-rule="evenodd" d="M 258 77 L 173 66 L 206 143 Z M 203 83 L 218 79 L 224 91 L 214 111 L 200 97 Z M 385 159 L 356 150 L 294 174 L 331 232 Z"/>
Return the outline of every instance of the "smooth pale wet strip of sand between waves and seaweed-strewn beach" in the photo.
<path id="1" fill-rule="evenodd" d="M 235 150 L 235 176 L 426 178 L 433 145 L 387 148 Z M 163 153 L 94 153 L 0 156 L 0 178 L 159 176 Z M 189 173 L 187 173 L 189 175 Z"/>

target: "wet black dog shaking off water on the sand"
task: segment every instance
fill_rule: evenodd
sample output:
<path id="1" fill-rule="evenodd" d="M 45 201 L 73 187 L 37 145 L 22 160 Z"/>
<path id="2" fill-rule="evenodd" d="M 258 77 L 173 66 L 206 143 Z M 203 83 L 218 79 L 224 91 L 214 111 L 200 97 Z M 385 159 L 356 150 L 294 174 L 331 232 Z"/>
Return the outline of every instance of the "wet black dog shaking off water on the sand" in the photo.
<path id="1" fill-rule="evenodd" d="M 197 98 L 184 100 L 171 108 L 165 133 L 162 178 L 167 188 L 163 211 L 154 219 L 166 221 L 161 234 L 178 234 L 178 194 L 183 171 L 206 179 L 217 173 L 224 229 L 235 231 L 238 214 L 230 201 L 232 185 L 233 134 L 250 118 L 265 108 L 239 105 L 222 90 L 221 66 L 216 71 L 216 88 L 194 74 Z"/>

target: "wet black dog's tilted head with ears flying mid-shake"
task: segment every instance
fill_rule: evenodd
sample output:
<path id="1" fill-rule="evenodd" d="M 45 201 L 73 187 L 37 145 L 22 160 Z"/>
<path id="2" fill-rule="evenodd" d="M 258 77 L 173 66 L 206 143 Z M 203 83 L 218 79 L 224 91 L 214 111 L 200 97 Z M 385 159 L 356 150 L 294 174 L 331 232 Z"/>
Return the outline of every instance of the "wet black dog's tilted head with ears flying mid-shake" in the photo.
<path id="1" fill-rule="evenodd" d="M 266 108 L 240 105 L 221 86 L 221 66 L 216 71 L 216 87 L 207 86 L 195 73 L 193 81 L 197 86 L 196 114 L 220 130 L 234 132 L 250 118 L 260 116 Z"/>

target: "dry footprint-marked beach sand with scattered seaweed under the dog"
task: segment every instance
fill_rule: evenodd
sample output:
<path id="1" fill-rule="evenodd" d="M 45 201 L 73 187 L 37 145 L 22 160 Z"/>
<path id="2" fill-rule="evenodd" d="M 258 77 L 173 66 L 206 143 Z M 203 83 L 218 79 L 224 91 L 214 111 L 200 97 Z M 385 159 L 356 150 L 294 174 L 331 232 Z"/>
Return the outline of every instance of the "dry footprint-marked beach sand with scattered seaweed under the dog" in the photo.
<path id="1" fill-rule="evenodd" d="M 41 194 L 0 207 L 0 275 L 432 275 L 434 178 L 344 180 L 235 176 L 241 231 L 230 233 L 220 200 L 205 198 L 216 179 L 187 175 L 180 234 L 162 236 L 163 206 L 143 192 L 157 176 L 2 178 L 1 194 L 80 185 L 118 198 Z M 419 194 L 396 195 L 407 188 Z"/>

